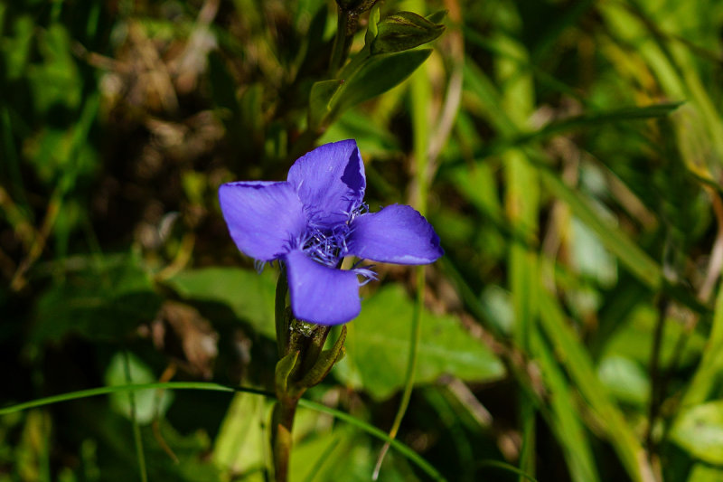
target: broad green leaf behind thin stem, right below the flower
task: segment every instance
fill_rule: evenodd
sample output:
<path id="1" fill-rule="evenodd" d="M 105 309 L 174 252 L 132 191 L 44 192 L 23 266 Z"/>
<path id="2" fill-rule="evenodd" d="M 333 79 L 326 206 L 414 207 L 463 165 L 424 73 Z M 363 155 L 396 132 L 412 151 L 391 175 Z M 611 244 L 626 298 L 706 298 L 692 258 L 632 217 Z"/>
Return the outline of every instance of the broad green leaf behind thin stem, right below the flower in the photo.
<path id="1" fill-rule="evenodd" d="M 404 383 L 413 311 L 412 301 L 398 284 L 381 288 L 364 301 L 362 314 L 347 325 L 346 357 L 333 373 L 375 399 L 390 397 Z M 434 382 L 444 373 L 466 381 L 504 375 L 502 363 L 453 316 L 424 311 L 418 350 L 418 384 Z"/>

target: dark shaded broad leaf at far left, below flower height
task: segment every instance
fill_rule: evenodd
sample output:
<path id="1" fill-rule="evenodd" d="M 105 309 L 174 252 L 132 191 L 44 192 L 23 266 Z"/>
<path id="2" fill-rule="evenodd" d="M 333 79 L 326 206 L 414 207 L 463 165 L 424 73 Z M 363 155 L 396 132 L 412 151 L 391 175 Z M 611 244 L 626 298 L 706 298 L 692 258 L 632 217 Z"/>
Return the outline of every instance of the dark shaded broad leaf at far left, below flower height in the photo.
<path id="1" fill-rule="evenodd" d="M 68 272 L 64 281 L 38 299 L 32 343 L 57 342 L 70 333 L 89 340 L 117 340 L 140 323 L 155 319 L 161 298 L 135 257 L 72 262 L 81 268 Z"/>

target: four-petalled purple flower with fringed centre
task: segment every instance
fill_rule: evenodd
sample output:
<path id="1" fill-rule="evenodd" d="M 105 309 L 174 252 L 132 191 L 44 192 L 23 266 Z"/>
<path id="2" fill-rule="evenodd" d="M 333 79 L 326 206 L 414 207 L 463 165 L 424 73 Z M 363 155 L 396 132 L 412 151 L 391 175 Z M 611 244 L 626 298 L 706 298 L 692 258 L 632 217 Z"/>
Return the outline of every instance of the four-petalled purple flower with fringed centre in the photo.
<path id="1" fill-rule="evenodd" d="M 399 264 L 431 263 L 439 237 L 410 206 L 368 213 L 366 178 L 353 139 L 319 146 L 296 160 L 285 182 L 251 181 L 219 188 L 221 212 L 239 250 L 286 267 L 294 317 L 338 325 L 359 315 L 359 276 L 339 269 L 344 256 Z M 357 263 L 358 264 L 358 263 Z"/>

